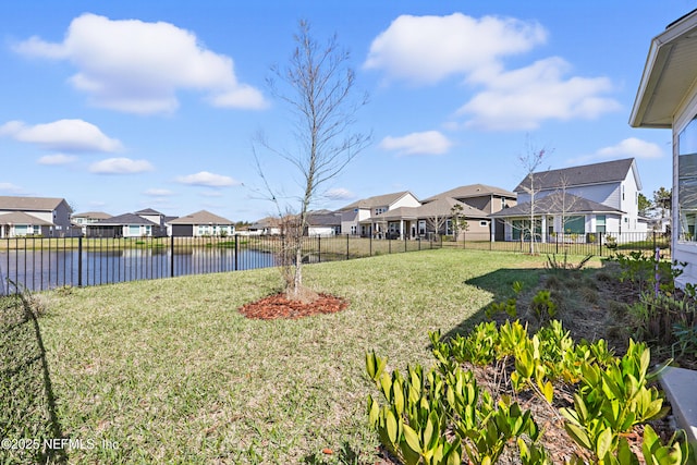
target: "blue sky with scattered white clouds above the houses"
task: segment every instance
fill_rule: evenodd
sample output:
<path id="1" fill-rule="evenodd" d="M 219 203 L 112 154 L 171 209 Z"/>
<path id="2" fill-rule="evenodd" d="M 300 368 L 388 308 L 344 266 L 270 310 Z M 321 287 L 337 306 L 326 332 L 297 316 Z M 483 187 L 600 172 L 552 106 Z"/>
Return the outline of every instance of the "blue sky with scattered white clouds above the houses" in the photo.
<path id="1" fill-rule="evenodd" d="M 671 133 L 627 121 L 650 40 L 697 1 L 35 1 L 0 3 L 0 195 L 111 215 L 274 212 L 253 156 L 292 146 L 266 85 L 298 20 L 351 51 L 372 143 L 314 208 L 635 157 L 644 194 L 671 184 Z M 259 150 L 273 187 L 299 174 Z"/>

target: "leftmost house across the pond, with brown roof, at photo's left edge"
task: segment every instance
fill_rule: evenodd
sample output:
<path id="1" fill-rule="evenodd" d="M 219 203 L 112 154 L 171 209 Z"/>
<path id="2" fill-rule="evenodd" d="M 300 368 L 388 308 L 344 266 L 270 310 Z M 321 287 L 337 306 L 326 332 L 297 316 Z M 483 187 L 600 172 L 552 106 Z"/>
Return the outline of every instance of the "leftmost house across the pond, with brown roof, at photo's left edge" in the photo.
<path id="1" fill-rule="evenodd" d="M 71 213 L 63 198 L 0 196 L 0 237 L 70 236 Z"/>

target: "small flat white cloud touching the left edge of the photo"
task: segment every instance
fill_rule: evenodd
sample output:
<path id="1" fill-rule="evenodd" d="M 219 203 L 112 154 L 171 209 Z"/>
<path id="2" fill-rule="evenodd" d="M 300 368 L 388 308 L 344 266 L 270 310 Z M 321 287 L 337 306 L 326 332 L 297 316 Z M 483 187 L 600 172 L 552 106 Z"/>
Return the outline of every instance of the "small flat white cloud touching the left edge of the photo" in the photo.
<path id="1" fill-rule="evenodd" d="M 58 120 L 34 126 L 10 121 L 0 126 L 0 136 L 68 152 L 112 152 L 122 148 L 118 139 L 108 137 L 99 127 L 83 120 Z"/>

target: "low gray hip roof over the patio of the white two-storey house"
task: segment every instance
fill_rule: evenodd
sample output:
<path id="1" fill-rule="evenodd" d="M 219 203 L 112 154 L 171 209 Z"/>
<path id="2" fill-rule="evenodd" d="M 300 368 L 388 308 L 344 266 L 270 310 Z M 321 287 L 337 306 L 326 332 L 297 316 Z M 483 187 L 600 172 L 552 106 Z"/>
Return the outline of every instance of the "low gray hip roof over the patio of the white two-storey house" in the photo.
<path id="1" fill-rule="evenodd" d="M 535 200 L 535 215 L 550 213 L 623 213 L 624 211 L 576 195 L 555 192 Z M 530 203 L 518 204 L 515 207 L 504 208 L 491 218 L 525 217 L 530 215 Z"/>

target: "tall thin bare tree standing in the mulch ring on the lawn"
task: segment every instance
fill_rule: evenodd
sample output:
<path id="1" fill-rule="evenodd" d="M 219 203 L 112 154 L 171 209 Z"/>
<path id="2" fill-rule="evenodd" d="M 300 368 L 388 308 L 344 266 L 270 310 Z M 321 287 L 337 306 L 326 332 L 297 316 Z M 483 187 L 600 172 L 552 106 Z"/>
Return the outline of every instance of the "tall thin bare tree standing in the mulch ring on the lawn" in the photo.
<path id="1" fill-rule="evenodd" d="M 303 235 L 308 225 L 308 212 L 319 189 L 332 180 L 370 142 L 370 136 L 353 133 L 355 115 L 367 103 L 367 96 L 354 98 L 355 74 L 348 66 L 350 53 L 341 49 L 337 36 L 326 45 L 310 35 L 306 21 L 298 24 L 294 36 L 295 50 L 288 66 L 271 69 L 273 77 L 268 79 L 271 94 L 284 102 L 294 122 L 296 147 L 277 149 L 266 140 L 259 143 L 289 162 L 301 175 L 299 206 L 281 205 L 284 197 L 270 186 L 266 173 L 257 160 L 259 175 L 276 204 L 281 218 L 293 218 L 286 224 L 288 242 L 284 245 L 286 271 L 286 295 L 289 298 L 306 298 L 303 287 Z M 290 256 L 293 258 L 291 259 Z"/>

